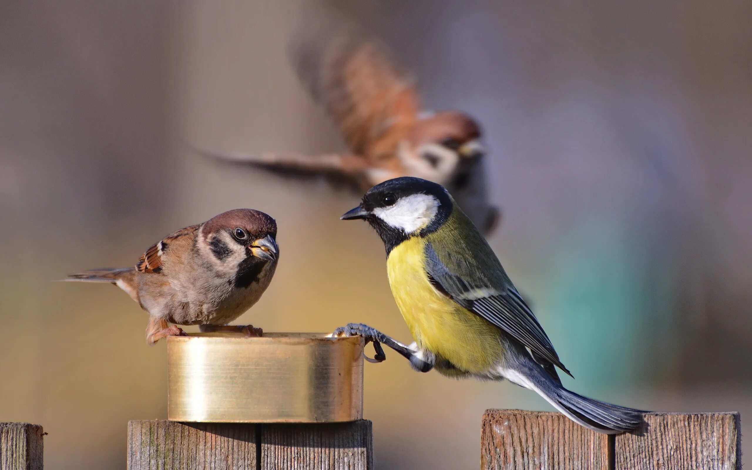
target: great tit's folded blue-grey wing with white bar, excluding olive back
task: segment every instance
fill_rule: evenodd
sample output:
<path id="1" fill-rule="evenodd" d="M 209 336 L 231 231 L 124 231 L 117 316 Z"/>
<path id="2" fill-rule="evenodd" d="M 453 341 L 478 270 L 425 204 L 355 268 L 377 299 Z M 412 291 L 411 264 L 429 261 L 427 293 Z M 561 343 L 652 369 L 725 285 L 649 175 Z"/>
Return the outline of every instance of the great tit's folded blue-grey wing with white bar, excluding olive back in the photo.
<path id="1" fill-rule="evenodd" d="M 468 282 L 454 274 L 451 268 L 441 261 L 432 244 L 426 243 L 425 253 L 429 280 L 438 290 L 462 307 L 503 329 L 512 338 L 528 347 L 534 357 L 550 361 L 572 375 L 559 360 L 559 355 L 553 349 L 546 332 L 514 286 L 491 286 L 490 282 L 478 281 L 482 276 L 476 276 L 475 282 Z M 463 261 L 467 264 L 467 260 Z"/>

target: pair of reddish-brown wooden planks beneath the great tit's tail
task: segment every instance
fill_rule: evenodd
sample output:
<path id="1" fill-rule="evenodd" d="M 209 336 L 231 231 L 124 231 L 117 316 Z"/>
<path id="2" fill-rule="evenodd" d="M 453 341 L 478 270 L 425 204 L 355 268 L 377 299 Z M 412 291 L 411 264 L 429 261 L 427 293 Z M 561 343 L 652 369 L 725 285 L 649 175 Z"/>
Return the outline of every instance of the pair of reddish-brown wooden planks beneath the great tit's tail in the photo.
<path id="1" fill-rule="evenodd" d="M 736 470 L 738 413 L 648 413 L 646 426 L 599 434 L 559 413 L 487 410 L 481 469 Z"/>

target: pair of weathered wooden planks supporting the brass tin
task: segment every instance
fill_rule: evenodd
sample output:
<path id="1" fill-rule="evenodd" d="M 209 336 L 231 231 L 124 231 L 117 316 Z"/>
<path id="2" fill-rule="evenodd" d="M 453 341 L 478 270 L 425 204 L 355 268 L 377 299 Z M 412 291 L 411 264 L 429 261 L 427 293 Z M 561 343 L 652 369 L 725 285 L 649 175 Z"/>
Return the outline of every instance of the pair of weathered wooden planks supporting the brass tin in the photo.
<path id="1" fill-rule="evenodd" d="M 371 421 L 128 423 L 129 470 L 372 470 Z"/>

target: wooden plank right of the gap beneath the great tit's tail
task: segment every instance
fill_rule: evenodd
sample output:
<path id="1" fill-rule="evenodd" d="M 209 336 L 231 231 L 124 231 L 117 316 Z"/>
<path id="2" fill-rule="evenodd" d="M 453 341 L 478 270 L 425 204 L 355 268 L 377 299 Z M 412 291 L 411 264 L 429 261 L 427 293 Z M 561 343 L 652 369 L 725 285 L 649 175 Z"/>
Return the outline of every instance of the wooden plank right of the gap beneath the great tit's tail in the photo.
<path id="1" fill-rule="evenodd" d="M 735 470 L 741 468 L 738 413 L 650 413 L 647 429 L 617 435 L 616 468 Z"/>

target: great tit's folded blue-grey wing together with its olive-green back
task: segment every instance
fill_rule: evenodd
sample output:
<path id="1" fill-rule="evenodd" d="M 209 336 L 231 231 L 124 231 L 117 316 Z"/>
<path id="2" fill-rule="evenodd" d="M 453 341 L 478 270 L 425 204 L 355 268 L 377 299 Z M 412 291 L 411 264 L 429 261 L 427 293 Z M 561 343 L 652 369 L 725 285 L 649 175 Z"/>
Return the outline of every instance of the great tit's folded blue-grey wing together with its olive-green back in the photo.
<path id="1" fill-rule="evenodd" d="M 499 259 L 485 239 L 475 232 L 454 244 L 427 241 L 426 274 L 444 295 L 484 317 L 532 351 L 569 373 L 550 339 L 530 311 Z"/>

